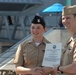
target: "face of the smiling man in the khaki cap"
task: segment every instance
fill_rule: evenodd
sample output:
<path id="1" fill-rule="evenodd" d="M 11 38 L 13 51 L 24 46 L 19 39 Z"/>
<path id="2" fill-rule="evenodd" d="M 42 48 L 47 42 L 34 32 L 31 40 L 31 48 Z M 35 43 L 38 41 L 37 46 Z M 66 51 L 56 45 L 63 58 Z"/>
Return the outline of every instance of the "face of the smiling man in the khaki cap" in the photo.
<path id="1" fill-rule="evenodd" d="M 67 29 L 76 29 L 76 17 L 74 17 L 74 15 L 62 16 L 62 23 Z"/>

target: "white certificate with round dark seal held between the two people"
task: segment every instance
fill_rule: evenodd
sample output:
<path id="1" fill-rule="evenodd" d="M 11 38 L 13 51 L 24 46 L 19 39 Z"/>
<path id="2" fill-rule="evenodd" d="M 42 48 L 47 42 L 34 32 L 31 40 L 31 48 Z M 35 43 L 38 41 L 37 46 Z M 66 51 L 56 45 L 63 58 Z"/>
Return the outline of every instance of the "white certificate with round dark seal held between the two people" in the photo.
<path id="1" fill-rule="evenodd" d="M 42 66 L 60 65 L 62 43 L 46 44 Z"/>

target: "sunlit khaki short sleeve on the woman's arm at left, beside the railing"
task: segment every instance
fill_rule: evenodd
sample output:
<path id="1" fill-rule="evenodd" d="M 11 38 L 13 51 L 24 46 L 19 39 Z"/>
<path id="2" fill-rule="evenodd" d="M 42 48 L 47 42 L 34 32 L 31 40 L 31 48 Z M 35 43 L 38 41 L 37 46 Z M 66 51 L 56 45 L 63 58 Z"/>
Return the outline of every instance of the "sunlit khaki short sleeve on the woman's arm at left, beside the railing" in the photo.
<path id="1" fill-rule="evenodd" d="M 14 57 L 14 64 L 16 65 L 23 65 L 23 51 L 22 46 L 19 45 L 15 57 Z"/>

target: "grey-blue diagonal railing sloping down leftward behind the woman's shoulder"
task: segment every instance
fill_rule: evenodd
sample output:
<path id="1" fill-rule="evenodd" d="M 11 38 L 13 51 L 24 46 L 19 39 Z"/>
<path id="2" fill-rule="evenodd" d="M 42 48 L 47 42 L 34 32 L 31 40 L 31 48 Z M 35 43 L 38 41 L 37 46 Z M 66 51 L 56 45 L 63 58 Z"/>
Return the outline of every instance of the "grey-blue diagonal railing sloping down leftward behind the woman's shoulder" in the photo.
<path id="1" fill-rule="evenodd" d="M 14 58 L 15 52 L 17 50 L 18 45 L 25 41 L 26 39 L 29 39 L 31 35 L 28 35 L 27 37 L 25 37 L 24 39 L 22 39 L 21 41 L 19 41 L 18 43 L 16 43 L 15 45 L 13 45 L 12 47 L 10 47 L 8 50 L 6 50 L 5 52 L 3 52 L 0 55 L 0 69 L 2 69 L 3 65 L 10 63 L 9 61 Z M 13 63 L 11 63 L 13 64 Z"/>

